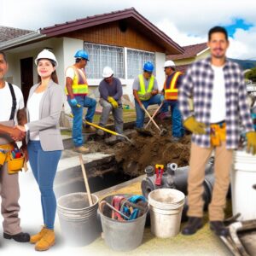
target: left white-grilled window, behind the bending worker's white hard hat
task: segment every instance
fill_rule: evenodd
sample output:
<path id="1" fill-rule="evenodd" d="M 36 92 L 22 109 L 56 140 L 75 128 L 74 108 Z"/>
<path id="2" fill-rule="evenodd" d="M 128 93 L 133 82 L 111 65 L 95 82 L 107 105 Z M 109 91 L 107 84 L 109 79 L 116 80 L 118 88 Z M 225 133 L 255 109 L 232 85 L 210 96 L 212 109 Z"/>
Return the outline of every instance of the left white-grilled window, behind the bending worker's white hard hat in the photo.
<path id="1" fill-rule="evenodd" d="M 125 79 L 124 48 L 102 44 L 84 43 L 90 61 L 86 66 L 88 79 L 102 79 L 104 67 L 112 67 L 114 76 Z"/>

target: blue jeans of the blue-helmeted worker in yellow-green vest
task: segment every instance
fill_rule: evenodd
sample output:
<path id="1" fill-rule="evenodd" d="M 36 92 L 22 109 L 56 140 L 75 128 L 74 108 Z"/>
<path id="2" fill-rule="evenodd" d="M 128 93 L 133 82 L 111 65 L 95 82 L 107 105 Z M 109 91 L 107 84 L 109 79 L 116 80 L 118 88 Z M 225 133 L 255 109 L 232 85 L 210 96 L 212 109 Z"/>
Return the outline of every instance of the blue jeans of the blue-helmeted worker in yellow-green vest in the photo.
<path id="1" fill-rule="evenodd" d="M 158 104 L 160 105 L 160 94 L 156 94 L 152 96 L 148 101 L 142 102 L 143 106 L 147 109 L 149 105 L 154 105 Z M 144 118 L 145 118 L 145 112 L 144 110 L 140 107 L 139 103 L 137 100 L 135 100 L 135 109 L 136 109 L 136 127 L 137 128 L 143 128 L 144 125 Z"/>

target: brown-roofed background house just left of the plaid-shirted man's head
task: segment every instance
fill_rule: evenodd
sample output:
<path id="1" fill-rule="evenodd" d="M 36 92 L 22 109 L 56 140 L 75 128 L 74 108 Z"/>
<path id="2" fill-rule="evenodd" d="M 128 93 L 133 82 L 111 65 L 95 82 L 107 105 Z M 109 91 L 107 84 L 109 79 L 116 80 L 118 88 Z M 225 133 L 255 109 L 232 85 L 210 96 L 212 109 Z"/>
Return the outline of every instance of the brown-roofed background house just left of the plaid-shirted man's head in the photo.
<path id="1" fill-rule="evenodd" d="M 174 61 L 177 66 L 177 70 L 183 73 L 192 62 L 205 59 L 210 55 L 210 49 L 207 46 L 207 43 L 183 46 L 183 49 L 183 54 L 166 56 L 166 60 Z"/>

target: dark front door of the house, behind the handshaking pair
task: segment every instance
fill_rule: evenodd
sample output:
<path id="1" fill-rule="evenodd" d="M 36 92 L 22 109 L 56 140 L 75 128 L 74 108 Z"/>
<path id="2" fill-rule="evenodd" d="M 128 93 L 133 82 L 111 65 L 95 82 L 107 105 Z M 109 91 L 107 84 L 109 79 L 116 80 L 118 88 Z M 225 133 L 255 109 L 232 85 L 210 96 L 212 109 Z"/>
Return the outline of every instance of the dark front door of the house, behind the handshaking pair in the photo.
<path id="1" fill-rule="evenodd" d="M 26 106 L 29 90 L 33 85 L 33 58 L 20 60 L 21 91 Z"/>

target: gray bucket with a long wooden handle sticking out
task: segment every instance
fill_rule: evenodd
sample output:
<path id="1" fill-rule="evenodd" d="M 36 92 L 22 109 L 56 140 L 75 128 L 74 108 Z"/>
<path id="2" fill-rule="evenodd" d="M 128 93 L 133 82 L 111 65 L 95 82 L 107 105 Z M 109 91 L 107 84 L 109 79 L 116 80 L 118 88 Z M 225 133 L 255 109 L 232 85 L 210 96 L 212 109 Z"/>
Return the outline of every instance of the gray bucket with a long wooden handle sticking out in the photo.
<path id="1" fill-rule="evenodd" d="M 84 246 L 100 236 L 101 228 L 97 221 L 99 199 L 91 195 L 90 207 L 87 193 L 72 193 L 61 196 L 57 201 L 61 234 L 67 243 Z"/>

